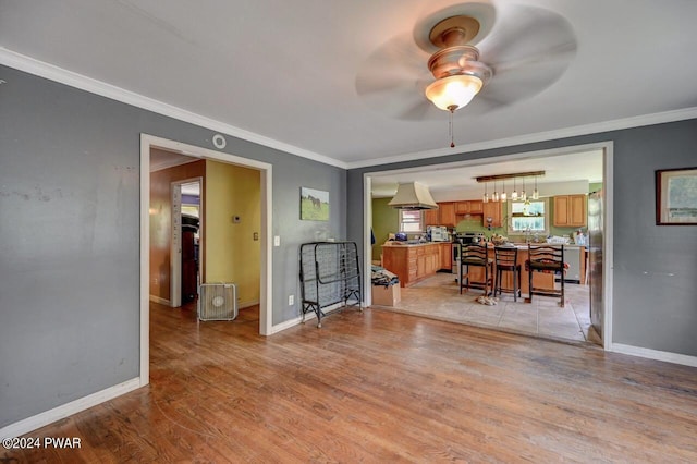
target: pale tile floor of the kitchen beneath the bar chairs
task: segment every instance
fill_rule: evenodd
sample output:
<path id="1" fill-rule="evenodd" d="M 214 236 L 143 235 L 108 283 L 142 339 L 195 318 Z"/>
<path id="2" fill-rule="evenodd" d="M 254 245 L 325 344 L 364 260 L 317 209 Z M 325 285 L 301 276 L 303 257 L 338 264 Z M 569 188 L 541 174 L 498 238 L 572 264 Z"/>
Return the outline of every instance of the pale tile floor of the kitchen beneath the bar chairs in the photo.
<path id="1" fill-rule="evenodd" d="M 565 283 L 564 291 L 563 308 L 559 306 L 558 297 L 535 295 L 533 303 L 525 303 L 526 295 L 523 295 L 516 303 L 511 293 L 503 293 L 497 305 L 488 306 L 476 302 L 482 294 L 481 290 L 472 289 L 461 295 L 453 274 L 437 273 L 416 285 L 401 289 L 402 300 L 395 306 L 380 308 L 555 340 L 599 344 L 600 339 L 590 326 L 589 286 Z"/>

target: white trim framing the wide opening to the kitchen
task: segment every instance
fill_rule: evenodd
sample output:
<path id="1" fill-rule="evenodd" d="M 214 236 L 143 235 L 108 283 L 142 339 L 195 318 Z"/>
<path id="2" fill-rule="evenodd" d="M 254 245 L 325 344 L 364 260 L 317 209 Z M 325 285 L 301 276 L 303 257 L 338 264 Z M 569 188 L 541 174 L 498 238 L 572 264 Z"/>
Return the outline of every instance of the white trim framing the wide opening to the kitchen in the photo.
<path id="1" fill-rule="evenodd" d="M 521 167 L 521 166 L 527 166 L 529 164 L 530 161 L 534 161 L 534 160 L 537 160 L 539 162 L 543 160 L 551 160 L 554 157 L 559 157 L 558 159 L 564 159 L 564 157 L 573 156 L 574 154 L 588 152 L 588 151 L 597 151 L 597 152 L 600 152 L 601 155 L 600 163 L 602 169 L 602 187 L 604 191 L 604 197 L 602 199 L 603 216 L 600 219 L 603 223 L 602 233 L 603 233 L 604 240 L 602 241 L 602 244 L 601 244 L 602 252 L 603 252 L 601 256 L 603 258 L 602 258 L 602 262 L 599 264 L 603 272 L 602 273 L 597 272 L 595 276 L 591 276 L 591 278 L 595 278 L 596 280 L 599 279 L 599 281 L 597 282 L 599 284 L 596 285 L 596 289 L 601 289 L 602 294 L 598 298 L 595 298 L 594 304 L 596 306 L 594 307 L 594 310 L 596 312 L 596 314 L 598 313 L 602 314 L 602 317 L 601 317 L 602 327 L 601 327 L 601 330 L 598 331 L 602 334 L 601 344 L 606 350 L 611 350 L 612 327 L 610 321 L 612 319 L 612 315 L 611 315 L 612 313 L 612 276 L 609 270 L 612 268 L 612 142 L 589 144 L 589 145 L 583 145 L 583 146 L 571 146 L 571 147 L 563 147 L 563 148 L 557 148 L 557 149 L 550 149 L 550 150 L 529 151 L 529 152 L 506 155 L 506 156 L 500 156 L 500 157 L 493 157 L 493 158 L 480 158 L 480 159 L 473 159 L 473 160 L 453 162 L 453 163 L 447 163 L 447 164 L 432 164 L 432 166 L 425 166 L 419 168 L 408 168 L 403 170 L 365 173 L 364 174 L 364 211 L 365 211 L 364 224 L 366 224 L 366 227 L 364 230 L 364 236 L 365 237 L 370 236 L 371 227 L 372 227 L 372 192 L 375 192 L 376 188 L 379 190 L 380 182 L 378 181 L 381 180 L 380 178 L 383 178 L 383 179 L 387 178 L 391 180 L 396 179 L 398 182 L 407 182 L 407 179 L 405 178 L 408 176 L 411 178 L 408 179 L 408 181 L 418 181 L 419 179 L 417 175 L 420 171 L 420 172 L 428 172 L 430 174 L 438 175 L 438 180 L 440 181 L 442 176 L 441 173 L 444 173 L 454 169 L 461 169 L 463 171 L 463 175 L 470 176 L 473 171 L 475 171 L 480 167 L 484 167 L 485 164 L 486 166 L 498 164 L 505 168 L 510 168 L 511 166 L 514 166 L 514 164 L 517 164 L 517 167 Z M 514 170 L 513 172 L 517 172 L 517 171 Z M 460 175 L 460 171 L 457 175 Z M 588 186 L 586 186 L 586 188 Z M 536 188 L 537 188 L 537 185 L 536 185 Z M 586 190 L 586 192 L 588 191 Z M 478 195 L 480 195 L 480 193 Z M 457 199 L 457 198 L 449 198 L 443 200 L 450 200 L 450 199 Z M 364 241 L 364 257 L 365 257 L 364 266 L 366 268 L 371 265 L 371 261 L 370 261 L 372 257 L 371 248 L 372 247 L 371 247 L 370 241 L 366 239 Z M 364 285 L 366 289 L 371 288 L 369 277 L 365 278 Z M 586 293 L 587 293 L 587 290 L 586 290 Z M 366 304 L 370 304 L 370 300 L 371 300 L 370 292 L 367 292 Z M 456 305 L 456 303 L 454 304 Z"/>

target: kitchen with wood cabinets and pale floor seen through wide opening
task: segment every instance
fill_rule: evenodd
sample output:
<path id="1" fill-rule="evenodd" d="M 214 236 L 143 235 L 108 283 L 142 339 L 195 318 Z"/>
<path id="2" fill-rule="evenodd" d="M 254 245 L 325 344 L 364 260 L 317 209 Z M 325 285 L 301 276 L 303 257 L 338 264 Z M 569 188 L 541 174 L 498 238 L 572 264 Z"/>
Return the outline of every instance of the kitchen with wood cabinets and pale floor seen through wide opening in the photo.
<path id="1" fill-rule="evenodd" d="M 594 160 L 601 166 L 597 157 L 588 156 L 584 161 Z M 563 166 L 565 160 L 559 157 L 554 161 L 555 166 Z M 540 164 L 550 166 L 549 161 Z M 413 181 L 399 183 L 392 196 L 374 195 L 372 264 L 396 274 L 401 286 L 399 302 L 383 308 L 551 339 L 599 343 L 590 321 L 588 198 L 602 190 L 601 169 L 595 169 L 599 174 L 588 174 L 576 172 L 570 164 L 568 172 L 573 174 L 568 175 L 587 176 L 571 181 L 549 169 L 513 168 L 516 167 L 499 167 L 498 173 L 490 174 L 491 168 L 487 167 L 487 175 L 475 175 L 485 169 L 469 170 L 468 193 L 465 188 L 457 192 L 452 187 L 450 191 L 429 187 L 436 185 L 433 181 L 428 186 Z M 409 205 L 401 198 L 403 188 L 412 196 L 416 194 L 416 203 Z M 424 191 L 426 199 L 419 198 Z M 470 268 L 467 274 L 460 265 L 461 248 L 467 243 L 486 245 L 492 260 L 494 246 L 518 249 L 522 271 L 517 298 L 512 292 L 513 273 L 506 271 L 500 279 L 503 292 L 496 296 L 489 293 L 486 303 L 480 298 L 485 292 L 477 283 L 484 283 L 484 268 Z M 533 302 L 526 302 L 528 244 L 564 245 L 563 305 L 559 296 L 535 295 Z M 468 291 L 461 289 L 463 272 L 473 283 Z M 491 276 L 489 279 L 493 285 Z M 533 286 L 559 292 L 560 274 L 533 272 Z"/>

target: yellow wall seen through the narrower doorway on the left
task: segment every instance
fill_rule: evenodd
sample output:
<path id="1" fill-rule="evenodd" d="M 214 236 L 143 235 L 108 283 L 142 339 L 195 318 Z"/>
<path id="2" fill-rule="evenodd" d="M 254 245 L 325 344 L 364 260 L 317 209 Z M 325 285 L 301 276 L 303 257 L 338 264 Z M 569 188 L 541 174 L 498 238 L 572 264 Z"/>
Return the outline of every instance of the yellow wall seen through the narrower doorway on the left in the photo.
<path id="1" fill-rule="evenodd" d="M 259 302 L 261 247 L 254 233 L 261 229 L 260 183 L 259 171 L 206 161 L 205 283 L 234 283 L 241 307 Z"/>

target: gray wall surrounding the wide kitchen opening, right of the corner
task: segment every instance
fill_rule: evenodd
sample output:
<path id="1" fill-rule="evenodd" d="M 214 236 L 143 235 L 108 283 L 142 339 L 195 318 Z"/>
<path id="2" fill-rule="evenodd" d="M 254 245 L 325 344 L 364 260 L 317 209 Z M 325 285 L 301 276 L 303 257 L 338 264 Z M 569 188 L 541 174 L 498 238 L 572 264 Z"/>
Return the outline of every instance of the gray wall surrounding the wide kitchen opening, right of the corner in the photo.
<path id="1" fill-rule="evenodd" d="M 348 237 L 363 243 L 363 174 L 614 142 L 613 342 L 697 356 L 697 227 L 656 225 L 655 170 L 697 166 L 697 120 L 355 169 Z M 493 160 L 492 160 L 493 161 Z"/>

